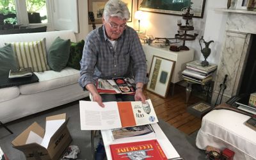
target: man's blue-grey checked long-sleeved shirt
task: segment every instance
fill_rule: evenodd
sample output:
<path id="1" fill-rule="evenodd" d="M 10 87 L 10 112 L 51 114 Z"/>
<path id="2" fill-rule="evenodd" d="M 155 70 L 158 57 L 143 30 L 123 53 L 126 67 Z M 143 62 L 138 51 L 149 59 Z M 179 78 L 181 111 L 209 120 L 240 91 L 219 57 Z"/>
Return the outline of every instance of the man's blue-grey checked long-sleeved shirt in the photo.
<path id="1" fill-rule="evenodd" d="M 91 31 L 84 41 L 79 78 L 83 88 L 98 78 L 134 77 L 135 83 L 147 83 L 146 57 L 134 29 L 127 27 L 115 47 L 109 42 L 104 26 Z"/>

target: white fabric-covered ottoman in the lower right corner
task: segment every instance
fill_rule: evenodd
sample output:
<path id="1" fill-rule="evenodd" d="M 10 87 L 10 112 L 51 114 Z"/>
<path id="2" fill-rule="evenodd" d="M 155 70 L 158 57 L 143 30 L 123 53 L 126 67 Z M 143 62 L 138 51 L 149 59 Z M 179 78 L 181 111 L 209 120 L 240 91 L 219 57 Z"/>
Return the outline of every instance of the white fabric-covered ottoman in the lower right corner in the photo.
<path id="1" fill-rule="evenodd" d="M 249 118 L 227 109 L 207 113 L 196 136 L 196 147 L 229 148 L 235 152 L 234 160 L 256 159 L 256 131 L 244 125 Z"/>

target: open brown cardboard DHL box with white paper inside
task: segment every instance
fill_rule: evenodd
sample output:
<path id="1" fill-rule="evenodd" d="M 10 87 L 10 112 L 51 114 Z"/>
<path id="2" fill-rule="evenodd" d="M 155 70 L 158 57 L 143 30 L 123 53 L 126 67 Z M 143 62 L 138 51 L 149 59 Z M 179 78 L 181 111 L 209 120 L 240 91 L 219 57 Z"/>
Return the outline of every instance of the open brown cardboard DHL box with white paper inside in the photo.
<path id="1" fill-rule="evenodd" d="M 22 151 L 28 160 L 59 159 L 72 141 L 67 123 L 65 113 L 48 116 L 45 129 L 34 122 L 12 141 L 13 148 Z M 27 141 L 32 141 L 32 143 Z"/>

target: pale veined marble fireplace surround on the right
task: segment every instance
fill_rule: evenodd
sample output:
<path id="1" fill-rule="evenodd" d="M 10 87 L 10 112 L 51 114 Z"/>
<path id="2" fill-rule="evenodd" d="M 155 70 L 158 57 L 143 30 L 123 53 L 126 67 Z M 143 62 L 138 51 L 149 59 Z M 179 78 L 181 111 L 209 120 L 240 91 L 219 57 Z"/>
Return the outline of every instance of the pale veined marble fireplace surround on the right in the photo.
<path id="1" fill-rule="evenodd" d="M 239 92 L 248 50 L 250 49 L 251 35 L 256 34 L 256 12 L 226 9 L 219 9 L 218 11 L 228 12 L 228 19 L 225 44 L 221 49 L 221 60 L 218 64 L 212 92 L 212 104 L 216 102 L 220 92 L 220 84 L 223 83 L 225 74 L 228 75 L 226 81 L 227 88 L 223 93 L 222 102 L 226 102 L 230 97 L 237 95 Z M 218 98 L 218 103 L 220 102 L 220 97 Z"/>

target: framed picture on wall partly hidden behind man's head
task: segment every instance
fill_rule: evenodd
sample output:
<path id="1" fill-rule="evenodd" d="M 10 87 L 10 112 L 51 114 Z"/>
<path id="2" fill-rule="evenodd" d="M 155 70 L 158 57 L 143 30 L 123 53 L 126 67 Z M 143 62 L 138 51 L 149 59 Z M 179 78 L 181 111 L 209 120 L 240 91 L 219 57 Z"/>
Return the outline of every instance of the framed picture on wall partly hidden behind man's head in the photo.
<path id="1" fill-rule="evenodd" d="M 131 18 L 127 22 L 132 22 L 132 0 L 122 0 L 127 4 L 129 12 L 131 13 Z M 102 24 L 102 15 L 104 11 L 104 6 L 108 0 L 88 0 L 88 12 L 92 12 L 95 24 Z M 89 24 L 92 24 L 92 17 L 89 17 Z"/>

